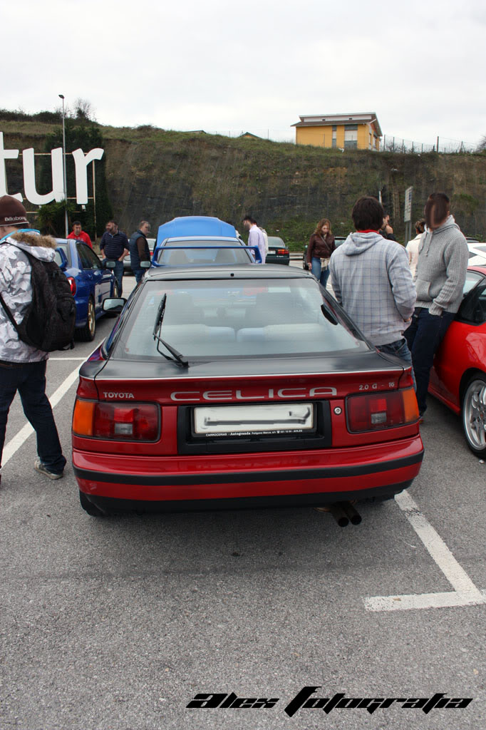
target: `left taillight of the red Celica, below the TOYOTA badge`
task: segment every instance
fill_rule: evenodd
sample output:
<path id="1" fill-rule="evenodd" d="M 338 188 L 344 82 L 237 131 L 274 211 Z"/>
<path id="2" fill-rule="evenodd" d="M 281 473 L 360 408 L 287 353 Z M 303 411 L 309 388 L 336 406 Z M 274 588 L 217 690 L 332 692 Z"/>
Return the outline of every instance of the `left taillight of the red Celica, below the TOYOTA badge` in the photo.
<path id="1" fill-rule="evenodd" d="M 147 403 L 97 403 L 77 399 L 72 430 L 77 436 L 115 441 L 156 441 L 159 409 Z"/>

